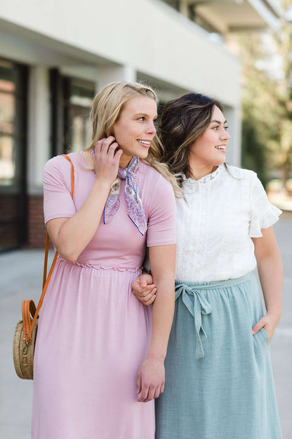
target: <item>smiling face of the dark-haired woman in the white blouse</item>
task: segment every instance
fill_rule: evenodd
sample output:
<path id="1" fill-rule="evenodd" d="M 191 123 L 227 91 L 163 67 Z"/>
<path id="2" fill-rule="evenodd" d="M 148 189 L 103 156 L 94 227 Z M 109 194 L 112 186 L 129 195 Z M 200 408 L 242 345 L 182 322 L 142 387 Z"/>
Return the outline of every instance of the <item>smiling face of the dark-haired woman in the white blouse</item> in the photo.
<path id="1" fill-rule="evenodd" d="M 222 111 L 214 106 L 208 128 L 190 146 L 190 163 L 196 166 L 219 166 L 225 163 L 229 139 L 225 117 Z"/>

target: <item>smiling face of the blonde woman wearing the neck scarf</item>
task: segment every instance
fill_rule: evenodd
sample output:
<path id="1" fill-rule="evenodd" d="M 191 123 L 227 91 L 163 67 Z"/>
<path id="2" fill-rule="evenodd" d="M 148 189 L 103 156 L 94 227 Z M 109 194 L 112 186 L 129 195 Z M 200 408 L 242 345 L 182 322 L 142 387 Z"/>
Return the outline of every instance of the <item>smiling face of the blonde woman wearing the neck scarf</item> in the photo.
<path id="1" fill-rule="evenodd" d="M 114 137 L 124 151 L 120 165 L 127 165 L 132 157 L 146 158 L 156 133 L 157 104 L 147 96 L 131 99 L 114 124 Z"/>

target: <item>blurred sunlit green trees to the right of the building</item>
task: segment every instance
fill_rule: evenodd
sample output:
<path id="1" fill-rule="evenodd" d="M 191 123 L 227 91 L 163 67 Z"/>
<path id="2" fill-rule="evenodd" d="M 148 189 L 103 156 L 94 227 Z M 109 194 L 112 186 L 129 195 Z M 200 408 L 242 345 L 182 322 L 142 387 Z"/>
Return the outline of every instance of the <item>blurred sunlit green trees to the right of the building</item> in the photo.
<path id="1" fill-rule="evenodd" d="M 292 11 L 292 0 L 283 0 Z M 237 37 L 242 63 L 242 164 L 267 182 L 280 170 L 283 186 L 292 171 L 292 25 L 277 32 Z M 275 65 L 278 67 L 275 68 Z"/>

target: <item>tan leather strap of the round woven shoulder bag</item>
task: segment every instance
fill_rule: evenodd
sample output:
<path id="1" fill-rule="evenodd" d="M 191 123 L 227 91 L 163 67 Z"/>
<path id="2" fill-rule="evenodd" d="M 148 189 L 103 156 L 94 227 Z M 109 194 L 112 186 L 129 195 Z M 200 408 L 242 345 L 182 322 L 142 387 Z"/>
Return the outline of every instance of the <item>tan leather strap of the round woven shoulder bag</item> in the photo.
<path id="1" fill-rule="evenodd" d="M 68 160 L 71 164 L 71 196 L 73 198 L 74 195 L 74 166 L 71 158 L 68 155 L 62 154 L 62 156 Z M 55 261 L 58 257 L 58 252 L 55 252 L 55 256 L 53 258 L 53 262 L 48 272 L 48 277 L 46 276 L 47 266 L 48 266 L 48 246 L 50 243 L 50 237 L 48 236 L 48 232 L 46 232 L 46 248 L 45 248 L 45 258 L 44 258 L 44 276 L 43 276 L 43 291 L 41 293 L 41 298 L 39 299 L 39 303 L 37 307 L 35 307 L 33 300 L 23 300 L 22 302 L 22 322 L 23 329 L 25 333 L 25 342 L 30 343 L 32 341 L 32 330 L 34 329 L 34 324 L 36 323 L 36 319 L 39 315 L 39 310 L 41 309 L 41 305 L 43 305 L 44 297 L 46 294 L 46 290 L 48 288 L 48 283 L 51 279 L 53 269 L 55 267 Z M 30 315 L 32 316 L 32 322 L 30 321 Z"/>

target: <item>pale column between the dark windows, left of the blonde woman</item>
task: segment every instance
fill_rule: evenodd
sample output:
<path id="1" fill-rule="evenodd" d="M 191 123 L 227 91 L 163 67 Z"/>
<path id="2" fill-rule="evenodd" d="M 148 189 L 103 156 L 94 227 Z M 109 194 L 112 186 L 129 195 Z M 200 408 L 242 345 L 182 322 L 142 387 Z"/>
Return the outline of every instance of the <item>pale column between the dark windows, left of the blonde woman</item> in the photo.
<path id="1" fill-rule="evenodd" d="M 44 163 L 50 154 L 50 91 L 48 69 L 32 67 L 29 71 L 28 117 L 28 193 L 41 193 Z"/>

